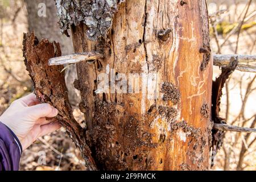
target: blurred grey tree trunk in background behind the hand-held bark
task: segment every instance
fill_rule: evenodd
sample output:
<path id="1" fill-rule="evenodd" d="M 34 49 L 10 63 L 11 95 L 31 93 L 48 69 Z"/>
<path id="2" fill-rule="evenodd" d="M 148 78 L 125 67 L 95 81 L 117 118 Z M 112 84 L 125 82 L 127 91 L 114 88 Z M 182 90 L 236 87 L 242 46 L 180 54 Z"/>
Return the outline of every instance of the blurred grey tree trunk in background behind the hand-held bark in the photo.
<path id="1" fill-rule="evenodd" d="M 57 10 L 55 1 L 53 0 L 24 0 L 27 7 L 28 30 L 34 31 L 38 39 L 49 39 L 51 42 L 60 43 L 61 52 L 63 55 L 73 53 L 72 39 L 61 35 L 59 25 L 57 24 Z M 46 8 L 40 6 L 44 3 Z M 46 11 L 46 16 L 44 12 Z M 80 93 L 73 86 L 73 82 L 77 78 L 76 66 L 71 65 L 65 72 L 65 81 L 68 88 L 68 98 L 73 106 L 81 101 Z"/>

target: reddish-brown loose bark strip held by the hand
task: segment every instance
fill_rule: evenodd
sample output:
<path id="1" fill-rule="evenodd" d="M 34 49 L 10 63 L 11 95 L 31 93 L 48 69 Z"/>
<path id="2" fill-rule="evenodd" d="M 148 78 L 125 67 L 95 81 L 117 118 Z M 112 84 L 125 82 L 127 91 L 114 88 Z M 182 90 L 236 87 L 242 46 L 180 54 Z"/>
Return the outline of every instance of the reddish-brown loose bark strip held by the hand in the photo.
<path id="1" fill-rule="evenodd" d="M 23 56 L 36 96 L 41 102 L 51 104 L 59 110 L 56 118 L 80 148 L 86 162 L 85 166 L 88 170 L 96 169 L 90 149 L 86 144 L 85 132 L 72 115 L 64 73 L 60 73 L 63 66 L 48 66 L 49 59 L 61 56 L 60 45 L 56 42 L 50 43 L 47 39 L 39 42 L 34 33 L 24 34 Z"/>

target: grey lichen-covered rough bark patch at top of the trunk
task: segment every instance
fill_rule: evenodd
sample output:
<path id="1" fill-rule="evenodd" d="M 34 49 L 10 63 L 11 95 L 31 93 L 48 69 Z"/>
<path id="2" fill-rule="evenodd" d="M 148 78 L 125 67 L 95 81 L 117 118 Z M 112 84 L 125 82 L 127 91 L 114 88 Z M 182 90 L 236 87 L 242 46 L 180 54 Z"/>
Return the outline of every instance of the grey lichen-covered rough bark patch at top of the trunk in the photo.
<path id="1" fill-rule="evenodd" d="M 123 0 L 55 0 L 61 33 L 66 34 L 69 25 L 84 23 L 86 36 L 95 41 L 106 38 L 112 27 L 113 15 Z"/>

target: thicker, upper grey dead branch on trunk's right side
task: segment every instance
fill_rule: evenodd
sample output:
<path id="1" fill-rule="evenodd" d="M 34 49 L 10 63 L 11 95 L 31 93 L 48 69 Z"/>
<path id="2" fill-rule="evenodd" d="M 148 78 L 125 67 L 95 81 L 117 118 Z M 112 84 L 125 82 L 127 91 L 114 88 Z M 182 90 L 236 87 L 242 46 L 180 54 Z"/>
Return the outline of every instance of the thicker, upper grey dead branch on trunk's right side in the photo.
<path id="1" fill-rule="evenodd" d="M 256 72 L 256 65 L 248 64 L 256 62 L 256 55 L 213 55 L 213 65 L 218 67 L 228 67 L 230 61 L 234 58 L 238 60 L 237 70 L 243 72 Z"/>

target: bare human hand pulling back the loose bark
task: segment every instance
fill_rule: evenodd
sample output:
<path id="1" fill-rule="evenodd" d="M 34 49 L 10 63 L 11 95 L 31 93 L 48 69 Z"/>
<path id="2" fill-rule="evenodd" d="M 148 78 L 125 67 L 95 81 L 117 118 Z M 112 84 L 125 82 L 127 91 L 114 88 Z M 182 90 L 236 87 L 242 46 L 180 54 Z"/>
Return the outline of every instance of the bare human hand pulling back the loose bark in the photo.
<path id="1" fill-rule="evenodd" d="M 34 93 L 14 101 L 0 117 L 18 137 L 23 150 L 36 139 L 60 128 L 53 117 L 58 110 L 49 104 L 40 104 Z"/>

